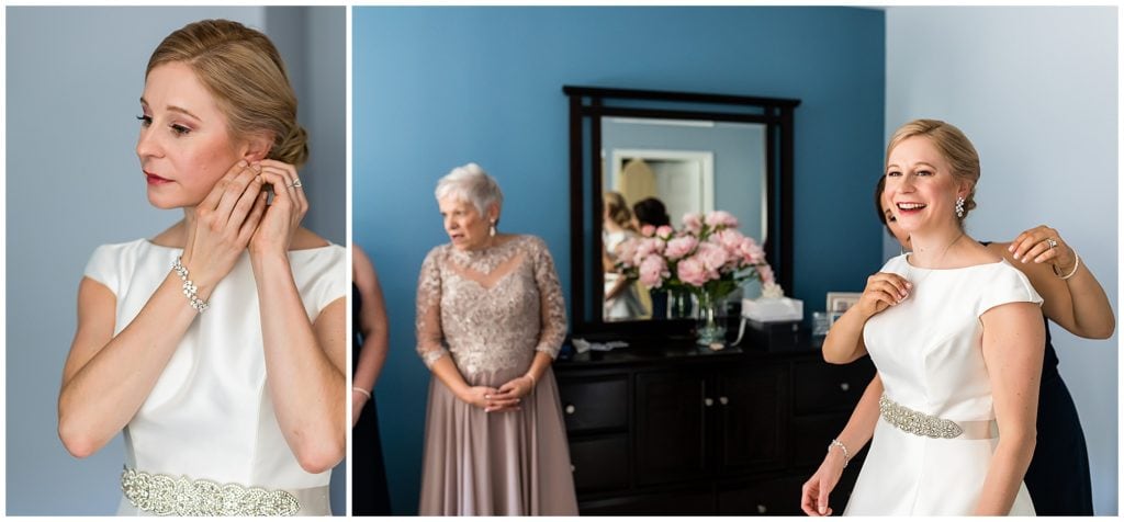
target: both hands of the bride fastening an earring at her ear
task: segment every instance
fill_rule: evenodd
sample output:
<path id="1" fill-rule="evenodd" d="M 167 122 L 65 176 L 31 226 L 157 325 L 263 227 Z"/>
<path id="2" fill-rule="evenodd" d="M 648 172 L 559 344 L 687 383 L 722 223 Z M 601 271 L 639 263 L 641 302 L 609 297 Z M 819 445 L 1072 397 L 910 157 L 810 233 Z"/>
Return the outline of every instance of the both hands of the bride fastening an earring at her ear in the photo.
<path id="1" fill-rule="evenodd" d="M 266 184 L 273 186 L 272 203 Z M 194 283 L 209 293 L 247 248 L 251 256 L 285 255 L 308 212 L 300 186 L 296 167 L 287 163 L 234 164 L 194 211 L 187 212 L 182 263 Z"/>

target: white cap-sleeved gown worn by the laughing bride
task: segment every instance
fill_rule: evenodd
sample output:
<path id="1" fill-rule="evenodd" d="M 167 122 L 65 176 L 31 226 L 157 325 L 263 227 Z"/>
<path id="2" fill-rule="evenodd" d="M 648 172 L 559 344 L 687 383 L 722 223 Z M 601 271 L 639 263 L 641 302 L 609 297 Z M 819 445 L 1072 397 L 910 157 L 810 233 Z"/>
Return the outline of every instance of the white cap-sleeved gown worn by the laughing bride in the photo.
<path id="1" fill-rule="evenodd" d="M 867 322 L 867 350 L 881 375 L 883 397 L 957 422 L 964 433 L 918 436 L 880 416 L 844 514 L 969 515 L 999 441 L 979 317 L 1005 303 L 1041 304 L 1042 297 L 1006 260 L 922 269 L 906 257 L 890 259 L 882 272 L 909 280 L 912 294 Z M 1025 485 L 1010 514 L 1034 514 Z"/>

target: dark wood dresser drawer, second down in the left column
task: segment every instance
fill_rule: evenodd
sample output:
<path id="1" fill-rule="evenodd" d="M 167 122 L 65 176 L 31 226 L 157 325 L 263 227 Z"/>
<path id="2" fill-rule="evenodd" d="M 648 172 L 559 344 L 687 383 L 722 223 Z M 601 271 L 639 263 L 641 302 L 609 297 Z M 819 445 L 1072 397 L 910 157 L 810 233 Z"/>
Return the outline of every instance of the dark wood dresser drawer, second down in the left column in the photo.
<path id="1" fill-rule="evenodd" d="M 628 437 L 583 437 L 570 440 L 570 468 L 578 493 L 628 487 Z"/>

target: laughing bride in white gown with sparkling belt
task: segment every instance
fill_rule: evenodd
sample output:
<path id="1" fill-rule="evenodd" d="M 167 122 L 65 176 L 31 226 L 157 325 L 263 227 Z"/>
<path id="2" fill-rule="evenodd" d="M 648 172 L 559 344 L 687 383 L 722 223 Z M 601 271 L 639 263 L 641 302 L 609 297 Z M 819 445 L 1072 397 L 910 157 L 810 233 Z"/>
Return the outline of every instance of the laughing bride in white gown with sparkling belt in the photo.
<path id="1" fill-rule="evenodd" d="M 849 515 L 1033 515 L 1044 330 L 1025 275 L 968 237 L 979 157 L 955 127 L 915 120 L 887 147 L 885 198 L 913 254 L 887 262 L 832 327 L 824 358 L 870 354 L 885 393 Z M 853 454 L 833 440 L 803 492 L 813 515 Z"/>

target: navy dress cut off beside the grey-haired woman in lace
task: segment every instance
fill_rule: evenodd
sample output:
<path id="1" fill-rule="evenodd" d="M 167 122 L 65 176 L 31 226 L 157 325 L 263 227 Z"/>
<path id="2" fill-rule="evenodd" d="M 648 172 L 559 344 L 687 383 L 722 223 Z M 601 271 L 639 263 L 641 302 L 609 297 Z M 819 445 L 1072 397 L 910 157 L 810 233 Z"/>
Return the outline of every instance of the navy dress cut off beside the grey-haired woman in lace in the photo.
<path id="1" fill-rule="evenodd" d="M 359 331 L 360 310 L 363 302 L 359 287 L 352 283 L 352 374 L 359 366 L 363 336 Z M 390 492 L 387 487 L 387 468 L 382 461 L 382 441 L 379 439 L 379 412 L 374 406 L 374 391 L 363 405 L 359 422 L 352 428 L 352 515 L 389 515 Z"/>

